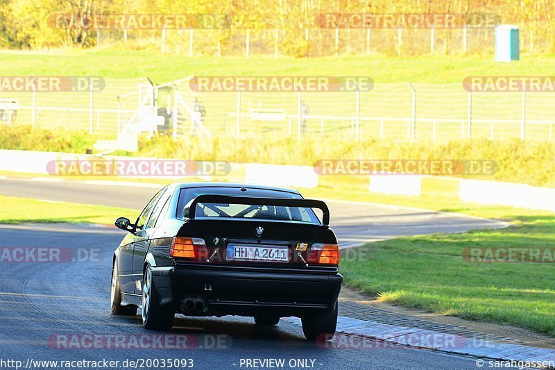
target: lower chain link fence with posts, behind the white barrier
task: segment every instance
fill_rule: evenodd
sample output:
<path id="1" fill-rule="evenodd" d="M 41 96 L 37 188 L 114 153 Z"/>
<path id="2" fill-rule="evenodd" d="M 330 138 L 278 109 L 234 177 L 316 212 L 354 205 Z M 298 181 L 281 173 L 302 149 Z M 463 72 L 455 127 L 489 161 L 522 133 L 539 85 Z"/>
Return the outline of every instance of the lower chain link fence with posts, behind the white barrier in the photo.
<path id="1" fill-rule="evenodd" d="M 155 131 L 173 137 L 327 135 L 363 140 L 553 140 L 549 92 L 468 92 L 462 84 L 375 84 L 364 92 L 196 92 L 190 78 L 107 80 L 101 92 L 0 92 L 3 125 L 53 131 Z M 15 102 L 15 104 L 14 104 Z M 9 110 L 9 112 L 8 112 Z M 13 112 L 12 112 L 13 110 Z M 9 113 L 9 114 L 8 114 Z"/>

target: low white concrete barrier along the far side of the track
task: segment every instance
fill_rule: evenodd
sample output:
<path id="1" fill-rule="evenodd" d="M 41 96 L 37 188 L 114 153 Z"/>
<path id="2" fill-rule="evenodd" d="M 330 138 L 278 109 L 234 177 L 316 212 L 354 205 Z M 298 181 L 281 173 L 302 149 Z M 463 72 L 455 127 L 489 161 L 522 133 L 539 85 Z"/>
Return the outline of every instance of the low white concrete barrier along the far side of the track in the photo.
<path id="1" fill-rule="evenodd" d="M 48 151 L 0 150 L 0 171 L 48 175 L 48 165 L 55 160 L 94 159 L 139 160 L 139 157 L 116 157 Z M 143 158 L 155 159 L 155 158 Z M 162 160 L 162 158 L 160 158 Z M 228 176 L 205 176 L 205 180 L 232 180 L 284 187 L 318 187 L 318 174 L 310 166 L 231 163 Z M 166 177 L 167 178 L 167 177 Z M 555 212 L 555 189 L 486 180 L 467 180 L 419 175 L 372 175 L 370 192 L 408 196 L 456 196 L 461 201 L 509 205 Z"/>

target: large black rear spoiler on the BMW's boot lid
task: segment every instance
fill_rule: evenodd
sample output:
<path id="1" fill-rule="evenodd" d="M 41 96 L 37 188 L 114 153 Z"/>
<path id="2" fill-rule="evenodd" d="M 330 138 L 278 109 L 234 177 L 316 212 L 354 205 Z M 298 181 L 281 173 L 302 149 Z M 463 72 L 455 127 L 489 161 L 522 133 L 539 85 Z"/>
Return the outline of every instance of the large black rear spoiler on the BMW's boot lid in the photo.
<path id="1" fill-rule="evenodd" d="M 189 219 L 195 219 L 196 205 L 198 203 L 230 203 L 246 205 L 281 205 L 283 207 L 306 207 L 318 208 L 322 211 L 322 224 L 330 225 L 330 210 L 326 203 L 316 199 L 290 199 L 290 198 L 261 198 L 253 196 L 230 196 L 217 194 L 203 194 L 197 196 L 191 202 L 189 208 Z"/>

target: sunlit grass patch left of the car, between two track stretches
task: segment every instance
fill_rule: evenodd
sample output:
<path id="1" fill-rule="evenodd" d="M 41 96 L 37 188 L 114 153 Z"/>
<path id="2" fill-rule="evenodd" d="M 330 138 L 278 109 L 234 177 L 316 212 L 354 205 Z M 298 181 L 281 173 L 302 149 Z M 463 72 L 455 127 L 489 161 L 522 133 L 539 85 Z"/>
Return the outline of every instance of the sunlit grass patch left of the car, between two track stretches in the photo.
<path id="1" fill-rule="evenodd" d="M 114 224 L 118 217 L 133 219 L 139 210 L 1 196 L 0 224 L 52 223 Z"/>

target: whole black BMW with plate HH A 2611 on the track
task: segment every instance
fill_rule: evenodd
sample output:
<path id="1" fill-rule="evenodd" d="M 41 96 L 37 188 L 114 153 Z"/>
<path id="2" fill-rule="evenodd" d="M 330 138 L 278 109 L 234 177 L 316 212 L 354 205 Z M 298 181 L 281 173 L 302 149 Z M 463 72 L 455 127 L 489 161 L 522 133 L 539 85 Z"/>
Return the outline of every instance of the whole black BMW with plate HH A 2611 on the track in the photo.
<path id="1" fill-rule="evenodd" d="M 318 219 L 313 208 L 322 213 Z M 339 246 L 322 201 L 296 190 L 233 183 L 174 183 L 157 192 L 114 252 L 112 312 L 146 328 L 173 316 L 302 319 L 309 339 L 334 333 Z"/>

